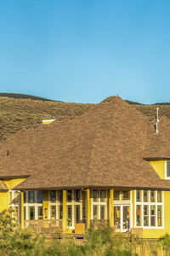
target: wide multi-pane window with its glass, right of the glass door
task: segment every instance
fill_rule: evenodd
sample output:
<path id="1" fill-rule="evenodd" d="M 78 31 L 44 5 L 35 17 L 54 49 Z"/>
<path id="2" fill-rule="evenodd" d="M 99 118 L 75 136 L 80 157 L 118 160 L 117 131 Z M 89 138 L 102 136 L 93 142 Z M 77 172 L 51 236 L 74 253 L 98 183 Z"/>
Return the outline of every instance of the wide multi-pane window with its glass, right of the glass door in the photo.
<path id="1" fill-rule="evenodd" d="M 140 195 L 143 197 L 139 201 Z M 156 190 L 136 190 L 136 227 L 160 227 L 163 226 L 163 192 Z"/>

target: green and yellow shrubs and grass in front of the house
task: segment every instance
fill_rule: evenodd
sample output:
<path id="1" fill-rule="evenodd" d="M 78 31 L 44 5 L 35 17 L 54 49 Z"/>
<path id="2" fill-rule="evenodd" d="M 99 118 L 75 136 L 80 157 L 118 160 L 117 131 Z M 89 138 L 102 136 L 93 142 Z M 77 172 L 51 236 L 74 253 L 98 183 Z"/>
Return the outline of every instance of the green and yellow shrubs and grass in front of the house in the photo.
<path id="1" fill-rule="evenodd" d="M 46 240 L 31 230 L 20 230 L 11 218 L 11 212 L 0 213 L 1 256 L 168 256 L 170 236 L 159 241 L 143 241 L 133 236 L 117 234 L 108 224 L 99 224 L 88 230 L 87 240 Z"/>

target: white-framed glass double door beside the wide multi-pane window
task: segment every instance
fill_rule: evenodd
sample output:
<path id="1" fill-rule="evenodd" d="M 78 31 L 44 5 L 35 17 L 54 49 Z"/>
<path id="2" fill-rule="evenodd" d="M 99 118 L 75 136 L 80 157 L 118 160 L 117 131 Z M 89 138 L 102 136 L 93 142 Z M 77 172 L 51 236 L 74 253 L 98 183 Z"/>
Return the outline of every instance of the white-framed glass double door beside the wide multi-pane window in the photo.
<path id="1" fill-rule="evenodd" d="M 130 206 L 114 206 L 114 225 L 116 231 L 127 232 L 130 229 Z"/>

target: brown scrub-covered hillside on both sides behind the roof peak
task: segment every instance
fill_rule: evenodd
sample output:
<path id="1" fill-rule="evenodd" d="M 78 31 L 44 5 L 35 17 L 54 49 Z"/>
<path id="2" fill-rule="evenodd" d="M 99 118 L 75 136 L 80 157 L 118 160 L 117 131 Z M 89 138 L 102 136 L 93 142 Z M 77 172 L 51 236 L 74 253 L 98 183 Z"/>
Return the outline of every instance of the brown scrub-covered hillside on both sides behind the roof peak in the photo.
<path id="1" fill-rule="evenodd" d="M 131 102 L 135 108 L 152 119 L 156 116 L 156 107 L 159 114 L 170 118 L 170 105 L 140 105 Z M 92 104 L 46 102 L 41 100 L 17 99 L 0 96 L 0 141 L 20 130 L 26 125 L 39 125 L 42 119 L 62 119 L 69 116 L 71 119 L 81 115 Z"/>

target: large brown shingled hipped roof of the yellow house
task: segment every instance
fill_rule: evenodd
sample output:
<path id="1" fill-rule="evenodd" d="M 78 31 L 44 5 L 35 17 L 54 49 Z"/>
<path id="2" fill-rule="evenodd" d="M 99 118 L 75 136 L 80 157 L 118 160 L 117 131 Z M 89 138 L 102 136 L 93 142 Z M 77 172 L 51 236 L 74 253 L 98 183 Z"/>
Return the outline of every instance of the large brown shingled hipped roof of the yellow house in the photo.
<path id="1" fill-rule="evenodd" d="M 0 177 L 29 176 L 15 189 L 170 189 L 144 160 L 170 158 L 169 125 L 161 119 L 156 134 L 148 117 L 115 96 L 75 119 L 9 137 L 0 149 Z"/>

